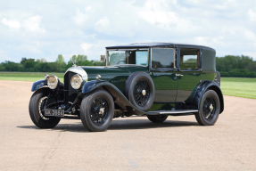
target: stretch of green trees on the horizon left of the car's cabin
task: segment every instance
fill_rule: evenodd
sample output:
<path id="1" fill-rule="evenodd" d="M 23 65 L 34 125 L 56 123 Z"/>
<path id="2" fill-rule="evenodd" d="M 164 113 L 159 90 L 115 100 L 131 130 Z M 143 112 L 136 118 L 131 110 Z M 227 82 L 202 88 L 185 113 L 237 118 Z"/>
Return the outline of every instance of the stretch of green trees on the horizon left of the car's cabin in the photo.
<path id="1" fill-rule="evenodd" d="M 35 60 L 23 57 L 20 63 L 13 61 L 4 61 L 0 63 L 0 71 L 17 71 L 17 72 L 65 72 L 73 62 L 78 66 L 104 66 L 104 61 L 88 61 L 87 55 L 73 55 L 67 63 L 64 61 L 62 54 L 59 54 L 56 61 L 47 62 L 45 59 Z"/>

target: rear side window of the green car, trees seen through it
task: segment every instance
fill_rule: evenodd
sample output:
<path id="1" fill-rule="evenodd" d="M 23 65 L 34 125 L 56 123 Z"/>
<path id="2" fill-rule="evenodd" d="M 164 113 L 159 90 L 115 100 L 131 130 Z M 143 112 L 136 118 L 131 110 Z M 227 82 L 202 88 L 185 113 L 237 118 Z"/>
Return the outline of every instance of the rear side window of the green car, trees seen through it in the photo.
<path id="1" fill-rule="evenodd" d="M 180 69 L 199 68 L 199 49 L 180 49 Z"/>

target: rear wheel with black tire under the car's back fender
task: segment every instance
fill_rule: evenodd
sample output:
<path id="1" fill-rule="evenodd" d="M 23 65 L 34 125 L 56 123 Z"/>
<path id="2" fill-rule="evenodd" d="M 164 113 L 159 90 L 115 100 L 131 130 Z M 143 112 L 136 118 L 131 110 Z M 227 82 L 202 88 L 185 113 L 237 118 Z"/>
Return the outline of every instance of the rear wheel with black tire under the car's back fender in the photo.
<path id="1" fill-rule="evenodd" d="M 202 95 L 200 109 L 195 113 L 195 118 L 201 126 L 213 126 L 219 118 L 219 96 L 213 90 L 208 90 Z"/>

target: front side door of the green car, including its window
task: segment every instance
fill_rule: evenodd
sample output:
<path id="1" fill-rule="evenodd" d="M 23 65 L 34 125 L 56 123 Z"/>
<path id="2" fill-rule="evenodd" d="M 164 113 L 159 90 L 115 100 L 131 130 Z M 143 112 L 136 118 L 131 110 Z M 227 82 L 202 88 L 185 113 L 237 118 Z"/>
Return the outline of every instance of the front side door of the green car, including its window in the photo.
<path id="1" fill-rule="evenodd" d="M 155 88 L 154 102 L 175 102 L 177 61 L 175 48 L 151 49 L 151 77 Z"/>

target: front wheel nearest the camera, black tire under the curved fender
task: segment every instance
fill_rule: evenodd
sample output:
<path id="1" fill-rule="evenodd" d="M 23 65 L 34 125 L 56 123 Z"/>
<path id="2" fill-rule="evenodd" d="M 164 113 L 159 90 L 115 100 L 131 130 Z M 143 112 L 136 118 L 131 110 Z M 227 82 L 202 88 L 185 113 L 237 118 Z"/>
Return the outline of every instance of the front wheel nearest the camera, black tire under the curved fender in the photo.
<path id="1" fill-rule="evenodd" d="M 81 102 L 80 118 L 87 130 L 105 131 L 111 125 L 113 116 L 113 98 L 106 90 L 96 89 L 85 95 Z"/>

